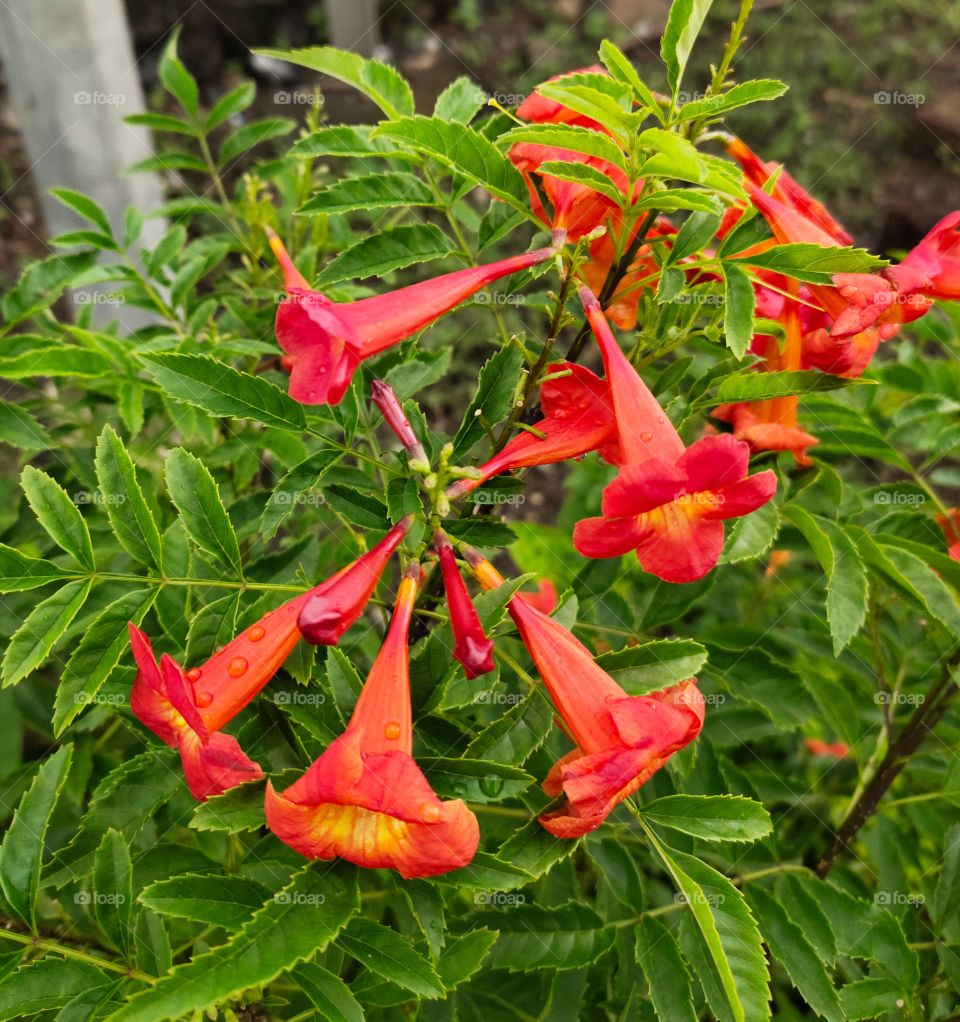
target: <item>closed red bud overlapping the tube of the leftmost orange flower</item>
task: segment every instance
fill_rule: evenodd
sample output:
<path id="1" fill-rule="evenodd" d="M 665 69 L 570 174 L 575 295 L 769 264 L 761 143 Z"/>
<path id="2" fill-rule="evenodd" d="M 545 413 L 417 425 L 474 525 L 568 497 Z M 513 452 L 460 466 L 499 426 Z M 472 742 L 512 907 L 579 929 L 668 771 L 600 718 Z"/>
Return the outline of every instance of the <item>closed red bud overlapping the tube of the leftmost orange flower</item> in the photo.
<path id="1" fill-rule="evenodd" d="M 412 521 L 412 515 L 401 518 L 375 547 L 307 594 L 298 619 L 307 642 L 315 646 L 335 646 L 339 642 L 363 613 L 386 562 Z"/>

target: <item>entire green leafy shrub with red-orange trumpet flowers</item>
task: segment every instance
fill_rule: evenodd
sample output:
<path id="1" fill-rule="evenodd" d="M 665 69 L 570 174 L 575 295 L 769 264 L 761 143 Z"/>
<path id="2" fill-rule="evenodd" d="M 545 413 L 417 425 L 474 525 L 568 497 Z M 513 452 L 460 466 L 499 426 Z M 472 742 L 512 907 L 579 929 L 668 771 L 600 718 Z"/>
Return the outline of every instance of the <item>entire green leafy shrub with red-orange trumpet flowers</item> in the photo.
<path id="1" fill-rule="evenodd" d="M 684 101 L 707 6 L 664 91 L 605 42 L 513 110 L 268 51 L 380 120 L 240 178 L 295 126 L 174 40 L 163 237 L 58 191 L 2 306 L 0 1018 L 960 1010 L 960 213 L 853 246 L 729 133 L 785 88 L 748 3 Z"/>

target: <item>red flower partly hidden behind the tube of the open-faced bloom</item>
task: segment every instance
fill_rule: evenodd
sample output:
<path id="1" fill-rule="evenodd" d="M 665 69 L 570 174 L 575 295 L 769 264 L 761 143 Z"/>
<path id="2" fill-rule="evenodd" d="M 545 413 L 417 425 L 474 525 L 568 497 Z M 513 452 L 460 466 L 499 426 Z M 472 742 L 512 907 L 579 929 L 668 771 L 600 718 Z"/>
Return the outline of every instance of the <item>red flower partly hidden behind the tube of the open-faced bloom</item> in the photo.
<path id="1" fill-rule="evenodd" d="M 616 423 L 606 383 L 589 369 L 572 362 L 554 363 L 549 367 L 549 375 L 556 373 L 569 375 L 548 379 L 541 385 L 540 407 L 544 417 L 534 423 L 537 432 L 517 433 L 499 454 L 478 467 L 478 477 L 455 482 L 447 491 L 450 500 L 475 490 L 501 472 L 549 465 L 579 458 L 590 451 L 599 451 L 612 464 L 620 463 Z"/>

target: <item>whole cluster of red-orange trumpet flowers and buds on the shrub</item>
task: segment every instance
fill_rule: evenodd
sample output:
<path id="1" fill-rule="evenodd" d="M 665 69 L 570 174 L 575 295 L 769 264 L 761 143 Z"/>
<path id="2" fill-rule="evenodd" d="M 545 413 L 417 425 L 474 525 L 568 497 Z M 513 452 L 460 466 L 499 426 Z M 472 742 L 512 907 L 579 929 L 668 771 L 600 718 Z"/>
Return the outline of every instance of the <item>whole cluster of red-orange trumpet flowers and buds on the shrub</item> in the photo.
<path id="1" fill-rule="evenodd" d="M 598 73 L 602 69 L 594 67 L 575 74 Z M 533 124 L 606 134 L 593 119 L 541 95 L 528 99 L 517 114 Z M 763 218 L 773 233 L 773 239 L 738 252 L 740 262 L 750 265 L 751 256 L 759 259 L 777 243 L 850 244 L 834 218 L 786 172 L 738 141 L 729 152 L 742 168 L 748 200 L 727 211 L 718 239 L 731 237 L 753 217 Z M 544 370 L 537 381 L 541 418 L 522 423 L 524 428 L 475 467 L 450 464 L 450 445 L 441 451 L 439 466 L 432 465 L 394 391 L 375 380 L 372 402 L 406 451 L 408 470 L 427 499 L 428 512 L 402 518 L 363 556 L 272 610 L 201 665 L 184 669 L 167 654 L 157 662 L 146 635 L 130 626 L 138 666 L 133 711 L 179 750 L 189 789 L 203 799 L 263 777 L 260 765 L 223 729 L 270 683 L 299 641 L 337 644 L 361 617 L 388 561 L 400 552 L 403 566 L 393 617 L 344 733 L 285 790 L 276 790 L 269 781 L 266 786 L 268 826 L 311 858 L 340 856 L 411 878 L 462 867 L 477 849 L 474 815 L 460 799 L 440 798 L 414 758 L 411 623 L 418 597 L 435 580 L 442 583 L 446 598 L 453 657 L 468 679 L 494 668 L 494 643 L 461 572 L 468 568 L 484 590 L 497 589 L 504 579 L 489 560 L 445 531 L 444 519 L 455 502 L 502 473 L 597 452 L 616 474 L 603 491 L 600 513 L 577 524 L 577 550 L 591 558 L 633 553 L 644 571 L 668 583 L 690 583 L 717 564 L 724 522 L 750 514 L 774 497 L 777 477 L 772 470 L 749 474 L 751 451 L 788 451 L 805 465 L 808 450 L 817 443 L 797 424 L 795 397 L 717 408 L 714 417 L 728 422 L 732 432 L 685 443 L 610 326 L 635 326 L 641 293 L 655 286 L 676 227 L 655 213 L 628 216 L 642 182 L 630 181 L 624 168 L 608 159 L 531 142 L 516 142 L 508 156 L 527 181 L 535 216 L 552 231 L 546 247 L 372 297 L 334 303 L 310 287 L 280 239 L 270 233 L 286 292 L 277 311 L 276 336 L 290 394 L 305 404 L 337 404 L 361 363 L 491 282 L 554 257 L 564 266 L 564 294 L 574 281 L 579 287 L 603 376 L 573 358 L 538 364 L 538 371 Z M 572 180 L 558 169 L 560 164 L 589 168 L 589 174 Z M 591 181 L 598 187 L 591 187 Z M 614 201 L 613 194 L 624 201 Z M 752 271 L 762 318 L 783 331 L 782 342 L 772 333 L 753 337 L 758 371 L 862 373 L 878 344 L 893 337 L 901 323 L 922 316 L 934 298 L 960 297 L 958 226 L 960 213 L 938 224 L 901 264 L 876 274 L 838 274 L 826 284 Z M 684 259 L 678 264 L 683 267 Z M 683 272 L 689 283 L 710 279 L 695 267 Z M 943 525 L 952 555 L 960 556 L 956 513 L 951 516 Z M 430 576 L 435 568 L 436 579 Z M 695 679 L 660 692 L 629 695 L 550 616 L 556 602 L 547 583 L 538 594 L 512 595 L 507 608 L 539 671 L 543 694 L 574 745 L 544 779 L 546 793 L 558 801 L 540 820 L 551 834 L 577 838 L 598 827 L 697 737 L 704 700 Z"/>

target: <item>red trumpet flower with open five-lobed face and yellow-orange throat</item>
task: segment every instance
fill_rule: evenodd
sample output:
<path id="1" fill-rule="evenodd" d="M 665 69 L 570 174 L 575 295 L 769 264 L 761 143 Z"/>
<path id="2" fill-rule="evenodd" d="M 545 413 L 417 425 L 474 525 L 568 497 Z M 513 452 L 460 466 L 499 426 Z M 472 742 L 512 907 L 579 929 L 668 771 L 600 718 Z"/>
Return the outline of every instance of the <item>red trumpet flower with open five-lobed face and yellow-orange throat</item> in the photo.
<path id="1" fill-rule="evenodd" d="M 597 299 L 587 288 L 580 296 L 606 367 L 623 467 L 603 492 L 603 517 L 578 522 L 574 546 L 585 557 L 633 550 L 643 569 L 665 582 L 695 582 L 720 557 L 724 520 L 766 504 L 776 475 L 747 478 L 749 449 L 733 436 L 704 436 L 684 448 L 620 350 Z"/>

